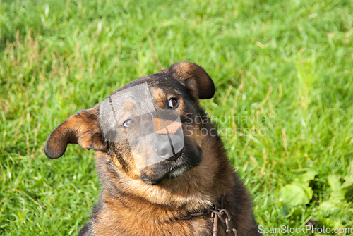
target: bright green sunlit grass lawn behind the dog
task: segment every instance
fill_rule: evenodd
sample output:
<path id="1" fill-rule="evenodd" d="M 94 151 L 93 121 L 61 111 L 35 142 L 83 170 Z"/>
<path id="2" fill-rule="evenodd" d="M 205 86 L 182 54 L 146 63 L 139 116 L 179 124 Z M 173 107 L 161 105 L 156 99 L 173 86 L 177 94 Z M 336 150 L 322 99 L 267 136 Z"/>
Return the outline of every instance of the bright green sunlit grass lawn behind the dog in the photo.
<path id="1" fill-rule="evenodd" d="M 202 104 L 259 225 L 352 227 L 352 186 L 333 211 L 319 209 L 336 191 L 329 176 L 353 175 L 352 26 L 348 0 L 3 0 L 0 235 L 76 235 L 99 194 L 93 152 L 71 145 L 47 159 L 49 133 L 179 61 L 215 81 Z M 280 190 L 309 170 L 313 196 L 284 216 Z"/>

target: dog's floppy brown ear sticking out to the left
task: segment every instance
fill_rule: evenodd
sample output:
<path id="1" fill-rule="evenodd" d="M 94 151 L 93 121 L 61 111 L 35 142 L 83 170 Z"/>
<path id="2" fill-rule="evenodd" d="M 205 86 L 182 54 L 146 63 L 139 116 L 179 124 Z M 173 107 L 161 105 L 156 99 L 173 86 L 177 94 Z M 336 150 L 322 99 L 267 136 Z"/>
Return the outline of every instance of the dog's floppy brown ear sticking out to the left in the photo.
<path id="1" fill-rule="evenodd" d="M 95 106 L 68 118 L 50 134 L 44 153 L 50 159 L 57 159 L 64 155 L 67 144 L 78 144 L 87 150 L 107 151 L 98 116 L 99 106 Z"/>

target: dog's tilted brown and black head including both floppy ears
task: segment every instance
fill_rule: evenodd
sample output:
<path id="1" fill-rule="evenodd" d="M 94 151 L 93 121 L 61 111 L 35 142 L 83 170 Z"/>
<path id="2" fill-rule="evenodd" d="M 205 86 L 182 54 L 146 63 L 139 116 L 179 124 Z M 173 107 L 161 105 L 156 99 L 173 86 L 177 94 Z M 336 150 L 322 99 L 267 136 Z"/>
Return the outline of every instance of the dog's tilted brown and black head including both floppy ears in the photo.
<path id="1" fill-rule="evenodd" d="M 116 167 L 148 185 L 177 178 L 202 160 L 198 99 L 214 93 L 213 81 L 201 66 L 174 64 L 68 118 L 49 136 L 44 152 L 56 159 L 67 144 L 79 144 L 106 152 Z"/>

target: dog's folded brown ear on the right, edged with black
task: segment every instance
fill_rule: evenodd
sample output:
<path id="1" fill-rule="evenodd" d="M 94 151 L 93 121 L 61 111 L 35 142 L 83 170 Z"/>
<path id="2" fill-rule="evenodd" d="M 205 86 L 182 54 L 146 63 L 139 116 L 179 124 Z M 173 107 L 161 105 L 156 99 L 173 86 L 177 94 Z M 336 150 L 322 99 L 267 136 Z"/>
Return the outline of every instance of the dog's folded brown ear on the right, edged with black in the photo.
<path id="1" fill-rule="evenodd" d="M 215 94 L 215 84 L 205 70 L 195 63 L 181 62 L 170 66 L 167 70 L 174 79 L 179 80 L 188 90 L 191 98 L 210 99 Z"/>

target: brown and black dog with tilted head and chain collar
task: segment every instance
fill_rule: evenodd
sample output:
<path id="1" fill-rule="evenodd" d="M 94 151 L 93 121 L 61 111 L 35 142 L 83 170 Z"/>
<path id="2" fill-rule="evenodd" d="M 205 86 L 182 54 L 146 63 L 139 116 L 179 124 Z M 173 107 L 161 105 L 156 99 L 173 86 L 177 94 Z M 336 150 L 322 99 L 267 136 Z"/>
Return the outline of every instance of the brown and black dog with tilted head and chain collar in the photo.
<path id="1" fill-rule="evenodd" d="M 194 63 L 140 77 L 61 123 L 45 154 L 96 152 L 100 200 L 78 235 L 261 235 L 249 192 L 199 99 L 215 85 Z"/>

